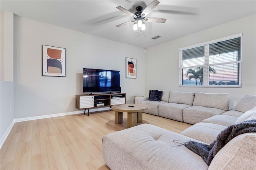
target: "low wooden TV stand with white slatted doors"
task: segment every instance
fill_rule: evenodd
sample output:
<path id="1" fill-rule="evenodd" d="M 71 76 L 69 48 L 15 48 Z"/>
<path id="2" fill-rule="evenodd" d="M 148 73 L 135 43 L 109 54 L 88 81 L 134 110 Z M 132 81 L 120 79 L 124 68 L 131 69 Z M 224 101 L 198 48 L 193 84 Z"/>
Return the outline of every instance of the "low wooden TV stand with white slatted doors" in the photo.
<path id="1" fill-rule="evenodd" d="M 126 93 L 108 93 L 108 94 L 91 94 L 91 95 L 76 95 L 76 109 L 111 107 L 126 103 Z"/>

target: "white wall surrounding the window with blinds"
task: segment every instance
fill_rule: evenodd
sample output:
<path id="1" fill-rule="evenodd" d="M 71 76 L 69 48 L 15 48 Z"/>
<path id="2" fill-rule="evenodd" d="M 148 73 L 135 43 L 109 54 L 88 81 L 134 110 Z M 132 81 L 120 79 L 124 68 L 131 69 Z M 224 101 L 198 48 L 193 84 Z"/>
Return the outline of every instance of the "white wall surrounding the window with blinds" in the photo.
<path id="1" fill-rule="evenodd" d="M 256 95 L 256 15 L 146 49 L 146 88 L 204 93 L 230 93 L 230 107 L 244 94 Z M 242 88 L 179 87 L 179 48 L 243 33 Z"/>

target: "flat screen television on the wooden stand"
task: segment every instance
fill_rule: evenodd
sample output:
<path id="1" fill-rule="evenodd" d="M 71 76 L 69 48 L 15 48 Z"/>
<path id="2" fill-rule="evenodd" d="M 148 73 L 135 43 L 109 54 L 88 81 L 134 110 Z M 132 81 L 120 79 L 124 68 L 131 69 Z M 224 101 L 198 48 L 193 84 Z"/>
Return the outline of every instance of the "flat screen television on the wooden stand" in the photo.
<path id="1" fill-rule="evenodd" d="M 120 92 L 120 71 L 83 68 L 83 93 Z"/>

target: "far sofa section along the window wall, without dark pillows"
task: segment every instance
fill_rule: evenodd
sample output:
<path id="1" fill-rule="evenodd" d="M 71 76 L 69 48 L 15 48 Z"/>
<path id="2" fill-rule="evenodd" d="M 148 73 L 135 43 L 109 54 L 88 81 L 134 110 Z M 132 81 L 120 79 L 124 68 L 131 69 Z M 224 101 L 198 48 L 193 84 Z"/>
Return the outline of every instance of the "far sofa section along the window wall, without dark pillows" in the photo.
<path id="1" fill-rule="evenodd" d="M 163 91 L 160 101 L 148 99 L 149 97 L 135 98 L 136 104 L 148 105 L 145 113 L 194 125 L 204 119 L 227 112 L 230 95 L 228 93 Z M 240 113 L 237 114 L 240 115 Z"/>

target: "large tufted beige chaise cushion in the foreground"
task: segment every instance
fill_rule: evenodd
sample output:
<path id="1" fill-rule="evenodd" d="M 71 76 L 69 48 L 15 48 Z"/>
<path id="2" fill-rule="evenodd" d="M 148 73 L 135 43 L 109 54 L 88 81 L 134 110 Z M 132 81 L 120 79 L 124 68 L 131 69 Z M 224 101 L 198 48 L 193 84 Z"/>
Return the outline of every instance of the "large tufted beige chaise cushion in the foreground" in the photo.
<path id="1" fill-rule="evenodd" d="M 112 170 L 208 169 L 200 156 L 174 140 L 194 139 L 149 124 L 113 132 L 103 137 L 104 161 Z"/>

